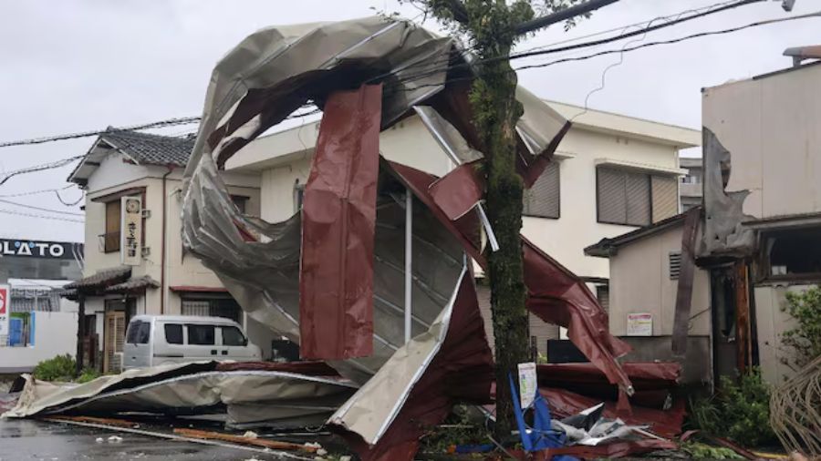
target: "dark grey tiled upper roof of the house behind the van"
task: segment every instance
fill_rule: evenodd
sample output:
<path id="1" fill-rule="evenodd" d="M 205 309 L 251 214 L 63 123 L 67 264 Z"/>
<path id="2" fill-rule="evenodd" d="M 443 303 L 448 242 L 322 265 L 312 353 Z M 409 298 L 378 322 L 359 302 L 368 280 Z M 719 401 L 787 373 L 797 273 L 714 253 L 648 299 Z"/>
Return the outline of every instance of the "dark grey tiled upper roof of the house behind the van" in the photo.
<path id="1" fill-rule="evenodd" d="M 100 139 L 134 159 L 140 165 L 184 167 L 191 157 L 195 138 L 174 138 L 137 131 L 113 131 Z"/>

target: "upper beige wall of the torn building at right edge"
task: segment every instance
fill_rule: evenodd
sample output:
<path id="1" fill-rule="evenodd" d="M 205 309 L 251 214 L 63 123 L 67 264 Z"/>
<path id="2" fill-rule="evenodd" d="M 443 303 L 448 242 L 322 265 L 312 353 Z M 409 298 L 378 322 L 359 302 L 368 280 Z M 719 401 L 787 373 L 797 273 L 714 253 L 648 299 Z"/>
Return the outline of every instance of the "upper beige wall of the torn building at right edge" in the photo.
<path id="1" fill-rule="evenodd" d="M 756 218 L 821 211 L 821 66 L 706 88 L 704 127 L 730 151 L 725 188 Z"/>

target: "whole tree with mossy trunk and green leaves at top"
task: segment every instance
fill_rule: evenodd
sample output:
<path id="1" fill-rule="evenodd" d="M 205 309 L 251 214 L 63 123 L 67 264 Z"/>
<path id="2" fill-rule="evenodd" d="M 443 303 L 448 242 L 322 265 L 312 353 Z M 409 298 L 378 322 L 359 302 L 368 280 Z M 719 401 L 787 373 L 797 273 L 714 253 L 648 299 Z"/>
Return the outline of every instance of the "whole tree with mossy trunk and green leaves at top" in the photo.
<path id="1" fill-rule="evenodd" d="M 522 261 L 523 181 L 515 170 L 515 126 L 522 105 L 515 98 L 516 74 L 510 53 L 524 38 L 517 27 L 582 0 L 405 0 L 432 15 L 462 39 L 477 58 L 470 102 L 473 125 L 486 159 L 487 214 L 499 251 L 488 255 L 496 358 L 495 433 L 507 438 L 514 426 L 508 374 L 529 360 Z M 566 27 L 573 23 L 567 23 Z"/>

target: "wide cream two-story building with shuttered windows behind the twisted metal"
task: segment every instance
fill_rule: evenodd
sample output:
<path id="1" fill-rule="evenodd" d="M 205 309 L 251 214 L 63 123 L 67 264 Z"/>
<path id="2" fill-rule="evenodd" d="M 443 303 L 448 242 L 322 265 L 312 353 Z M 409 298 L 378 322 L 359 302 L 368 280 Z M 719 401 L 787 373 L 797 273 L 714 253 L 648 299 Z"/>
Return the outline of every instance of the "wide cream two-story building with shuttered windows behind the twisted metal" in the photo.
<path id="1" fill-rule="evenodd" d="M 525 236 L 591 283 L 608 303 L 608 263 L 584 254 L 590 241 L 664 220 L 679 212 L 679 150 L 698 146 L 701 132 L 640 118 L 543 104 L 573 120 L 551 162 L 525 196 Z M 226 169 L 261 177 L 260 215 L 286 220 L 300 209 L 317 142 L 318 121 L 257 138 L 229 159 Z M 421 118 L 405 118 L 383 131 L 386 159 L 443 176 L 453 167 Z M 485 327 L 493 341 L 490 293 L 479 285 Z M 531 334 L 541 353 L 559 328 L 531 314 Z"/>

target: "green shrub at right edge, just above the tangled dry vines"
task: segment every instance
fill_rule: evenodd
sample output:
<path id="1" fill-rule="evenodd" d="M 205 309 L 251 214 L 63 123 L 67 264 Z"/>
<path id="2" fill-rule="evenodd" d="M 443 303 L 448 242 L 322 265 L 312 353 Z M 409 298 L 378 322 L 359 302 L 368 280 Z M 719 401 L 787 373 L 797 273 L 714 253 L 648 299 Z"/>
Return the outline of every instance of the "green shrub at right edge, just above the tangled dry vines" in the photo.
<path id="1" fill-rule="evenodd" d="M 782 342 L 795 351 L 792 362 L 800 369 L 821 355 L 821 287 L 787 292 L 786 301 L 783 310 L 797 326 L 782 335 Z"/>

